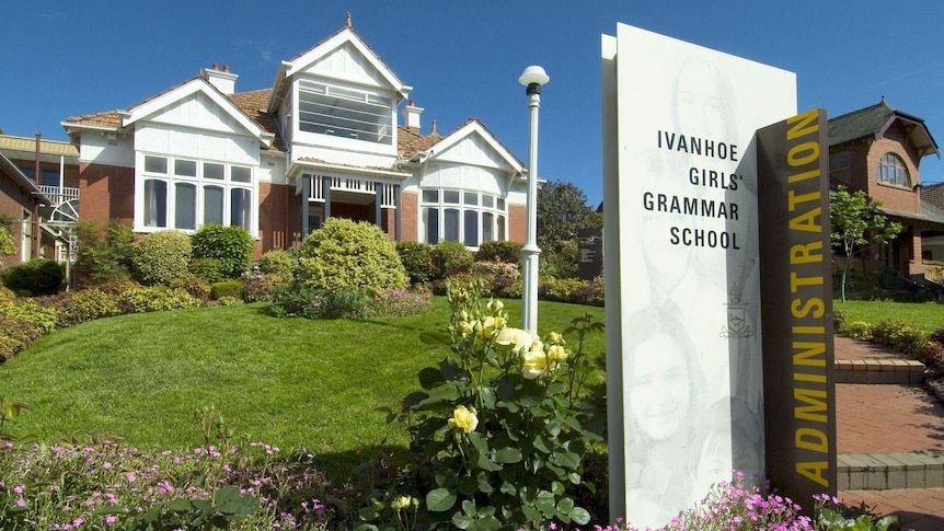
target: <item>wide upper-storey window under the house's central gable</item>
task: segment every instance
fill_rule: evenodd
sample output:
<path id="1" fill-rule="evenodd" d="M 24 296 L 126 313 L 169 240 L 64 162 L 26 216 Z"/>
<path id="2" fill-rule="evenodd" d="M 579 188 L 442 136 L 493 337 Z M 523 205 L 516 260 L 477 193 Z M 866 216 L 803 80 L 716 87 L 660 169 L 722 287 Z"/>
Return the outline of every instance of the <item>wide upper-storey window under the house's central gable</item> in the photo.
<path id="1" fill-rule="evenodd" d="M 393 101 L 371 92 L 299 82 L 298 128 L 307 132 L 393 143 Z"/>

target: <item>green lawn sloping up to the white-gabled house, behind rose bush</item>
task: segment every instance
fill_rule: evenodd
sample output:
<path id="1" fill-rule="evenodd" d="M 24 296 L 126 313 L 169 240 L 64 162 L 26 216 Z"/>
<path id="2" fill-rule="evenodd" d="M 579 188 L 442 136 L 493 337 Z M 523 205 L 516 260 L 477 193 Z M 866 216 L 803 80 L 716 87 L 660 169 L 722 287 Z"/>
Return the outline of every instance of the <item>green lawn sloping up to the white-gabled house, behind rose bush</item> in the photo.
<path id="1" fill-rule="evenodd" d="M 507 301 L 513 325 L 520 301 Z M 0 396 L 33 411 L 11 431 L 41 441 L 72 434 L 162 448 L 203 442 L 193 412 L 215 405 L 237 434 L 284 448 L 304 447 L 341 473 L 382 445 L 403 445 L 379 407 L 396 407 L 418 389 L 416 373 L 445 347 L 419 332 L 445 330 L 449 310 L 436 297 L 423 315 L 369 321 L 275 319 L 266 304 L 131 314 L 45 336 L 0 365 Z M 602 308 L 539 304 L 539 331 L 562 331 Z M 602 367 L 603 334 L 587 353 Z M 601 390 L 602 371 L 595 383 Z M 600 397 L 600 402 L 602 399 Z"/>

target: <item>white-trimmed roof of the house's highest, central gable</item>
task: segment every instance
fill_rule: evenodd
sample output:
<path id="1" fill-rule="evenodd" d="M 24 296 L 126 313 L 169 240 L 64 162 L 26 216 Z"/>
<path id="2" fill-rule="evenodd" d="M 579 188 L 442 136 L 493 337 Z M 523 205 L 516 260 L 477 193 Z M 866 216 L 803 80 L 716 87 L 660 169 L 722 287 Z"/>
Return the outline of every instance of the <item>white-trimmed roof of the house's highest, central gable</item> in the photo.
<path id="1" fill-rule="evenodd" d="M 360 35 L 358 35 L 350 26 L 350 21 L 348 19 L 348 24 L 338 30 L 334 35 L 318 43 L 308 50 L 302 51 L 291 60 L 281 61 L 278 72 L 275 76 L 272 99 L 269 100 L 266 109 L 268 112 L 275 112 L 276 108 L 278 108 L 278 101 L 281 99 L 281 93 L 287 90 L 285 88 L 286 80 L 290 79 L 296 73 L 304 71 L 315 61 L 345 44 L 354 46 L 357 51 L 367 59 L 370 66 L 373 67 L 383 80 L 390 84 L 393 91 L 398 93 L 401 101 L 405 99 L 411 91 L 413 91 L 413 88 L 405 84 L 400 77 L 396 76 L 396 73 L 394 73 L 385 62 L 383 62 L 380 56 L 370 49 L 370 46 L 360 38 Z"/>

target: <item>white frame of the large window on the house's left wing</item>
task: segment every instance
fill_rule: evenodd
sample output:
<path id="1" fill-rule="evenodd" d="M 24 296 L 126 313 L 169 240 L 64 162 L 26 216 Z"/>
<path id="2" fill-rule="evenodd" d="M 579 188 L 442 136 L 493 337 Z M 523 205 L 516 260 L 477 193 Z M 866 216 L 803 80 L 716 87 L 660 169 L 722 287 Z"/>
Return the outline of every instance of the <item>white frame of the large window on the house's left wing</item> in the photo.
<path id="1" fill-rule="evenodd" d="M 157 172 L 148 172 L 145 170 L 145 161 L 148 157 L 157 157 L 164 159 L 166 161 L 166 172 L 165 173 L 157 173 Z M 258 166 L 253 164 L 239 164 L 239 163 L 230 163 L 227 161 L 212 160 L 212 159 L 198 159 L 193 157 L 174 157 L 165 153 L 153 153 L 153 152 L 137 152 L 135 164 L 135 231 L 136 232 L 158 232 L 162 230 L 179 230 L 181 232 L 185 232 L 187 234 L 192 234 L 195 231 L 199 230 L 204 226 L 204 216 L 205 216 L 205 187 L 207 186 L 216 186 L 222 188 L 223 191 L 223 211 L 222 211 L 222 224 L 230 226 L 230 221 L 232 218 L 232 191 L 233 189 L 245 189 L 251 194 L 250 200 L 250 223 L 245 229 L 254 239 L 258 239 Z M 193 161 L 196 163 L 197 171 L 196 176 L 189 175 L 176 175 L 175 174 L 175 162 L 177 160 L 181 161 Z M 223 178 L 205 178 L 204 177 L 204 164 L 221 164 L 223 166 Z M 231 180 L 232 169 L 233 168 L 244 168 L 249 169 L 250 172 L 250 182 L 237 182 Z M 166 227 L 149 227 L 146 226 L 145 220 L 145 183 L 149 180 L 162 181 L 165 184 L 165 201 L 166 201 Z M 176 228 L 176 184 L 177 183 L 186 183 L 193 184 L 196 186 L 196 194 L 194 196 L 194 210 L 196 216 L 195 229 L 179 229 Z"/>

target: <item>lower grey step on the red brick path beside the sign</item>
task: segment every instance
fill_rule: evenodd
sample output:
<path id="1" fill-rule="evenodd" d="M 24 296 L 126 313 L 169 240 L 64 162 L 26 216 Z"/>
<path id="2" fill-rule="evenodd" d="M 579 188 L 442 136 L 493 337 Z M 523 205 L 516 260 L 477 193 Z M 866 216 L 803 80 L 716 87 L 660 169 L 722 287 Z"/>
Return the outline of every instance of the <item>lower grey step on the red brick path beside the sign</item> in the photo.
<path id="1" fill-rule="evenodd" d="M 944 487 L 944 452 L 840 453 L 839 490 Z"/>

